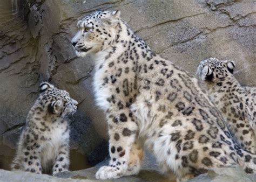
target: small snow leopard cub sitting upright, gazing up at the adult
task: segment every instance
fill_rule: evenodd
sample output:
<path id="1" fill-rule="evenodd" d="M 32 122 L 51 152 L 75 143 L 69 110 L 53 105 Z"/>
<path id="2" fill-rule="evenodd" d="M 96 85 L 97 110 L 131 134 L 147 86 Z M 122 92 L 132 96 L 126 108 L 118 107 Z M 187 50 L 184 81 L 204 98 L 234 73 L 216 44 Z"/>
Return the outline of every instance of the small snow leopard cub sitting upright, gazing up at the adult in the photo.
<path id="1" fill-rule="evenodd" d="M 48 82 L 26 117 L 12 170 L 55 175 L 69 169 L 69 124 L 66 116 L 75 113 L 77 101 Z"/>

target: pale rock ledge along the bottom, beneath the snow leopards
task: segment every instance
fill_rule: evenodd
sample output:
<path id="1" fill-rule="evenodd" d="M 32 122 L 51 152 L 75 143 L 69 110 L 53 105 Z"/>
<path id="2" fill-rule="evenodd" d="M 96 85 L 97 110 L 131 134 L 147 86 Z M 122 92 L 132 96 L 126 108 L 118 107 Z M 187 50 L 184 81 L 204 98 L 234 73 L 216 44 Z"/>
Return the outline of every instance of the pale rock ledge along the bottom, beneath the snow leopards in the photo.
<path id="1" fill-rule="evenodd" d="M 95 173 L 97 167 L 92 167 L 85 170 L 69 171 L 58 173 L 56 177 L 46 174 L 34 174 L 30 172 L 11 172 L 0 170 L 0 181 L 103 181 L 96 180 Z M 170 181 L 174 182 L 174 176 L 163 176 L 154 170 L 142 170 L 137 176 L 123 177 L 119 179 L 107 181 Z M 217 168 L 208 171 L 208 173 L 201 174 L 197 178 L 189 180 L 189 182 L 254 182 L 256 181 L 256 174 L 246 174 L 240 167 L 225 167 Z"/>

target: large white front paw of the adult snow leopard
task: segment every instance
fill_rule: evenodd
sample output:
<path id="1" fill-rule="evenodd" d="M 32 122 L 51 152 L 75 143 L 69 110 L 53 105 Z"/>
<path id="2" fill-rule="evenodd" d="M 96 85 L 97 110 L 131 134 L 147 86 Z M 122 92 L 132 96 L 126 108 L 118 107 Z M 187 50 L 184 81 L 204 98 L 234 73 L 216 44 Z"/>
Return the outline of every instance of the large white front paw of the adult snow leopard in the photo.
<path id="1" fill-rule="evenodd" d="M 116 179 L 123 176 L 127 176 L 122 166 L 102 166 L 96 172 L 96 179 Z"/>

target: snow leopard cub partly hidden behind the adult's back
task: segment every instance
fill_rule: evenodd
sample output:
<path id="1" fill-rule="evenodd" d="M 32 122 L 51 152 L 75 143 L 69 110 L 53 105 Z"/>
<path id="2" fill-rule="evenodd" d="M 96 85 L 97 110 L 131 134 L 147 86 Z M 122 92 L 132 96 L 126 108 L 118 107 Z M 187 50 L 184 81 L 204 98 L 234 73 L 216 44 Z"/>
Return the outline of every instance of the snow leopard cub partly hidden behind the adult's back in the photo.
<path id="1" fill-rule="evenodd" d="M 237 139 L 243 149 L 255 153 L 255 130 L 253 128 L 252 94 L 248 95 L 250 88 L 244 88 L 232 74 L 234 71 L 232 61 L 221 61 L 209 58 L 200 62 L 198 74 L 203 80 L 211 99 L 221 111 L 232 135 Z M 249 103 L 251 101 L 251 103 Z"/>

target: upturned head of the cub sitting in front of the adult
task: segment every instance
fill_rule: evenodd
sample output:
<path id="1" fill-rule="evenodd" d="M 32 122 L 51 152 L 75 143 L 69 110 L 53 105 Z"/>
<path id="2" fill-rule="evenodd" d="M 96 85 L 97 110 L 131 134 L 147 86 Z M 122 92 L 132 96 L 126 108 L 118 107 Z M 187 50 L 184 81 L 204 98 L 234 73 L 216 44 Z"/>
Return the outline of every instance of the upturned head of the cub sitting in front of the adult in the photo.
<path id="1" fill-rule="evenodd" d="M 42 82 L 39 90 L 37 101 L 49 114 L 65 117 L 76 112 L 78 102 L 66 90 L 58 89 L 48 82 Z"/>

